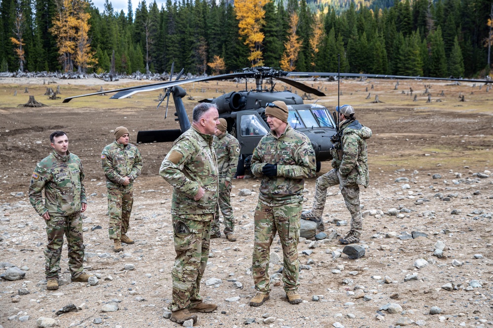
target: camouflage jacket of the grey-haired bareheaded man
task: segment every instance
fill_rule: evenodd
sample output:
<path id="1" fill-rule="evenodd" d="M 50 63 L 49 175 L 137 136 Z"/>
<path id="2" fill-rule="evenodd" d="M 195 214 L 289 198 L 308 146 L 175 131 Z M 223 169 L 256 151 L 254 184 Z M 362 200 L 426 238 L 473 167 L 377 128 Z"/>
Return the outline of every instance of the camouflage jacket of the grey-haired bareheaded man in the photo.
<path id="1" fill-rule="evenodd" d="M 212 140 L 211 135 L 198 132 L 192 125 L 164 158 L 159 174 L 174 187 L 172 214 L 203 221 L 203 214 L 215 212 L 219 181 Z M 200 187 L 205 194 L 195 201 Z"/>

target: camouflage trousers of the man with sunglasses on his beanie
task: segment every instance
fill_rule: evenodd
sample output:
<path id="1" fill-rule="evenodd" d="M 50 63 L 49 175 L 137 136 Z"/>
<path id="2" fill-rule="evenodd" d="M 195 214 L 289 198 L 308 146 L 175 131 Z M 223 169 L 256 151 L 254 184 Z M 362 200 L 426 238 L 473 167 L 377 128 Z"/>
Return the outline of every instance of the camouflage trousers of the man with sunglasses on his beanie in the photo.
<path id="1" fill-rule="evenodd" d="M 255 209 L 255 241 L 253 243 L 253 282 L 255 289 L 268 294 L 270 288 L 270 247 L 276 232 L 282 245 L 284 290 L 297 290 L 300 283 L 298 261 L 298 239 L 300 237 L 301 204 L 267 206 L 258 202 Z"/>

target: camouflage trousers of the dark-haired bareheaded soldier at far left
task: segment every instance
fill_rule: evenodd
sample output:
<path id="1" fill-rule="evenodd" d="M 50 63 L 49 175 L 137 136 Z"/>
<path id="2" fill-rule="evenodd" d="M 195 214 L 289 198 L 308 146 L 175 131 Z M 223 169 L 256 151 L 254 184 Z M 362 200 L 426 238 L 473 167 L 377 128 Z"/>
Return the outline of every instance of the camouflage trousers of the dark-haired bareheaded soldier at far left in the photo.
<path id="1" fill-rule="evenodd" d="M 46 279 L 58 279 L 64 235 L 68 244 L 70 274 L 72 278 L 78 277 L 82 273 L 84 260 L 80 212 L 70 215 L 50 213 L 50 219 L 46 220 L 46 234 L 48 235 L 48 243 L 44 250 Z"/>

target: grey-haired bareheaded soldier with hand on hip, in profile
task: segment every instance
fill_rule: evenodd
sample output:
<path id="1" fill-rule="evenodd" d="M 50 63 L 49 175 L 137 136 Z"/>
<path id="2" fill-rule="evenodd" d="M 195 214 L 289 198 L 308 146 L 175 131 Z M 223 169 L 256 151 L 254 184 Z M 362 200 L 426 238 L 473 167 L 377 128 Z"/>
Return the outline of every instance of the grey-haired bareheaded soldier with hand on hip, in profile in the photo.
<path id="1" fill-rule="evenodd" d="M 193 109 L 192 126 L 176 139 L 159 174 L 173 186 L 171 216 L 175 238 L 171 320 L 182 324 L 194 312 L 212 312 L 216 304 L 204 303 L 200 281 L 209 258 L 211 222 L 218 198 L 218 172 L 212 146 L 217 107 L 201 103 Z"/>

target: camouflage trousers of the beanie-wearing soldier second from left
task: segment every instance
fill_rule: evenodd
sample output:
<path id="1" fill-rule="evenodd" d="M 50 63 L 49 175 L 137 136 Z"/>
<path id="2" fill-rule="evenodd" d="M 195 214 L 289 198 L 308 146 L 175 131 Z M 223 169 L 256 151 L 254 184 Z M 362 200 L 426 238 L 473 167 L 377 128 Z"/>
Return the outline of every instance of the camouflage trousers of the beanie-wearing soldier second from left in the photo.
<path id="1" fill-rule="evenodd" d="M 133 189 L 108 188 L 109 239 L 121 239 L 127 233 L 133 203 Z"/>

